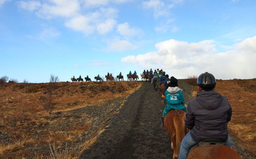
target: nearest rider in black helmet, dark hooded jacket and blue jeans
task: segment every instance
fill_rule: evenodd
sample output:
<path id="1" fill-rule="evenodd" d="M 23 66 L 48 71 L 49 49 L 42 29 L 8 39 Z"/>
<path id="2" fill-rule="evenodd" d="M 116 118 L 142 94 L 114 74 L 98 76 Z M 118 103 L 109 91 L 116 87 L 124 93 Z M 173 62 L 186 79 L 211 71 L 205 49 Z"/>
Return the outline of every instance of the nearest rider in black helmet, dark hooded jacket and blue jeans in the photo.
<path id="1" fill-rule="evenodd" d="M 197 79 L 199 92 L 188 103 L 185 124 L 190 132 L 183 138 L 179 158 L 187 158 L 189 149 L 203 139 L 217 138 L 231 146 L 227 124 L 231 120 L 232 108 L 227 98 L 213 89 L 215 77 L 205 72 Z"/>

